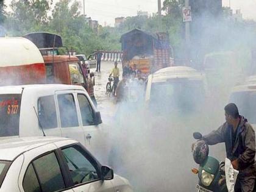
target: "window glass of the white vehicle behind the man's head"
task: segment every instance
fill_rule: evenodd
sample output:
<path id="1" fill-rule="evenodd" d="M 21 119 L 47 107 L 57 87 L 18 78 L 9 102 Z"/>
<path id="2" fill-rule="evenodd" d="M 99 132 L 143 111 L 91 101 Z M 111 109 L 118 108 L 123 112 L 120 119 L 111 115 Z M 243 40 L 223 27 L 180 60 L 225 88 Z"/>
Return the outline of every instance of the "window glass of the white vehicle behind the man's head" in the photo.
<path id="1" fill-rule="evenodd" d="M 239 113 L 251 124 L 256 124 L 256 91 L 240 91 L 232 93 L 230 102 L 237 105 Z"/>

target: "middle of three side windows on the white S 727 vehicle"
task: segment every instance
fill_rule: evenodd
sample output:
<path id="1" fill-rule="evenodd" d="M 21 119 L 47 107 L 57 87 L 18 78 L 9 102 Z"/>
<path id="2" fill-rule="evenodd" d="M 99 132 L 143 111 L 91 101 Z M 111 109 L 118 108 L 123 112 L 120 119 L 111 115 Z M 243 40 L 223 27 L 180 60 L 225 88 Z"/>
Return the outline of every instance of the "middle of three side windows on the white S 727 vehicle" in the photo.
<path id="1" fill-rule="evenodd" d="M 73 94 L 59 94 L 58 104 L 62 127 L 78 127 L 79 123 Z"/>

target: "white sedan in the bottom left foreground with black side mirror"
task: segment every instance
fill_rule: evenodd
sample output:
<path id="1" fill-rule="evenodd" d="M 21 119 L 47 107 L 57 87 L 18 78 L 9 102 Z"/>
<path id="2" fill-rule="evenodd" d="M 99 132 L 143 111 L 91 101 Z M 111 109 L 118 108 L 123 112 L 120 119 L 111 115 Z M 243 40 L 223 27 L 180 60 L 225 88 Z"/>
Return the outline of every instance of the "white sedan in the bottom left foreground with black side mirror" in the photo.
<path id="1" fill-rule="evenodd" d="M 32 126 L 30 126 L 31 128 Z M 0 191 L 132 192 L 75 140 L 27 137 L 0 141 Z"/>

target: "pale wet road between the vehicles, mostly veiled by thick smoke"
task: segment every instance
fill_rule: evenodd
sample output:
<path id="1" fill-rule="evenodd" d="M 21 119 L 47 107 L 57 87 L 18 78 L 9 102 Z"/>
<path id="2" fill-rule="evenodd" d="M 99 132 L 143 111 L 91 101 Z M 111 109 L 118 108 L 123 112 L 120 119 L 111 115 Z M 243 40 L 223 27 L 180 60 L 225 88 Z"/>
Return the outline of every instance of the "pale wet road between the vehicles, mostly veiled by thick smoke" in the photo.
<path id="1" fill-rule="evenodd" d="M 108 165 L 114 168 L 115 173 L 129 179 L 135 191 L 196 191 L 197 176 L 190 171 L 197 166 L 190 149 L 194 142 L 192 133 L 198 130 L 210 132 L 215 127 L 214 119 L 207 120 L 203 115 L 200 116 L 202 122 L 184 116 L 175 121 L 157 117 L 148 119 L 144 112 L 138 112 L 138 106 L 132 108 L 127 104 L 118 108 L 115 98 L 105 95 L 105 85 L 113 66 L 113 62 L 102 62 L 101 73 L 94 73 L 98 110 L 103 122 L 111 127 L 112 153 Z M 123 118 L 116 118 L 116 114 L 123 115 Z M 211 127 L 207 128 L 209 120 L 213 123 L 209 122 Z M 200 130 L 199 125 L 202 124 L 204 126 Z M 222 160 L 218 157 L 220 149 L 224 151 L 224 146 L 211 146 L 210 152 Z"/>

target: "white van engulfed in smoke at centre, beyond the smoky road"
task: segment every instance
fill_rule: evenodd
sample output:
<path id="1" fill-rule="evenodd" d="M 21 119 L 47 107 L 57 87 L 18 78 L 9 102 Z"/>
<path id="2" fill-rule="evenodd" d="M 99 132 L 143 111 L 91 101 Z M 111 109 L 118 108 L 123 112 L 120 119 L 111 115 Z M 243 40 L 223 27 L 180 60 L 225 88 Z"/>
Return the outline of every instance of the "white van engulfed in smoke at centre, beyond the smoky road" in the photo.
<path id="1" fill-rule="evenodd" d="M 191 112 L 205 99 L 205 78 L 196 69 L 171 66 L 149 75 L 146 105 L 155 114 Z"/>

